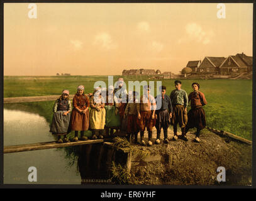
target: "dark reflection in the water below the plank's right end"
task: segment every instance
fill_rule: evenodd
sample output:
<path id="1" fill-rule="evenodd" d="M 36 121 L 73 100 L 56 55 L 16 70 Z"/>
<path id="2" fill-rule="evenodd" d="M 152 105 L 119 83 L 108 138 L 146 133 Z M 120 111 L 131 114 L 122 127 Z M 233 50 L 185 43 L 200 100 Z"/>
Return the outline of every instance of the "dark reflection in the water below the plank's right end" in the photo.
<path id="1" fill-rule="evenodd" d="M 80 146 L 77 165 L 82 184 L 128 184 L 126 167 L 129 165 L 129 159 L 131 159 L 129 151 L 118 150 L 111 144 Z M 122 172 L 114 168 L 113 164 L 120 165 Z M 113 177 L 113 173 L 117 171 L 117 177 Z"/>

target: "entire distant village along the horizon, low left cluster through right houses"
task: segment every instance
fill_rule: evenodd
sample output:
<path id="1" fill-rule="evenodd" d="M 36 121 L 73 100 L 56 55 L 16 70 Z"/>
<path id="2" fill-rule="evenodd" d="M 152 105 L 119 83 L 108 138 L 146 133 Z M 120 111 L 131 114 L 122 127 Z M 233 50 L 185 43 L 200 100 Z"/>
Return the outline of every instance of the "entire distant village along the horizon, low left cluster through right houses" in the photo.
<path id="1" fill-rule="evenodd" d="M 187 62 L 179 74 L 153 69 L 123 70 L 122 75 L 148 75 L 152 79 L 252 79 L 252 57 L 244 53 L 228 57 L 204 57 Z"/>

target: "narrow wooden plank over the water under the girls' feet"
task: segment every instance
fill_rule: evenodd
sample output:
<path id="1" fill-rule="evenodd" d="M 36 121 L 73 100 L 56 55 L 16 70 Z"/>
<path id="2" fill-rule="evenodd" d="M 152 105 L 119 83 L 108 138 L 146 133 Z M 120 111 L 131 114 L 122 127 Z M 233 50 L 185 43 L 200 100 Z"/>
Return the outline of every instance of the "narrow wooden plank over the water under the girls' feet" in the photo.
<path id="1" fill-rule="evenodd" d="M 77 146 L 77 145 L 103 143 L 103 142 L 104 142 L 103 139 L 92 139 L 87 141 L 77 141 L 77 142 L 70 142 L 70 143 L 56 143 L 56 141 L 52 141 L 52 142 L 45 142 L 45 143 L 20 144 L 20 145 L 13 145 L 13 146 L 4 146 L 4 153 L 62 148 L 67 146 Z"/>

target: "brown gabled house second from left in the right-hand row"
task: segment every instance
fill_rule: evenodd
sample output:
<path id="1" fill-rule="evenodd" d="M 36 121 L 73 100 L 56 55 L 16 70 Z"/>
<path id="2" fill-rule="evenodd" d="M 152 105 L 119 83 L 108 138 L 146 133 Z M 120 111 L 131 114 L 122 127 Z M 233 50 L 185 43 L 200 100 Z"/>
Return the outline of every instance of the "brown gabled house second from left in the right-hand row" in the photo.
<path id="1" fill-rule="evenodd" d="M 220 65 L 225 59 L 225 57 L 205 57 L 198 67 L 198 72 L 202 74 L 219 74 Z"/>

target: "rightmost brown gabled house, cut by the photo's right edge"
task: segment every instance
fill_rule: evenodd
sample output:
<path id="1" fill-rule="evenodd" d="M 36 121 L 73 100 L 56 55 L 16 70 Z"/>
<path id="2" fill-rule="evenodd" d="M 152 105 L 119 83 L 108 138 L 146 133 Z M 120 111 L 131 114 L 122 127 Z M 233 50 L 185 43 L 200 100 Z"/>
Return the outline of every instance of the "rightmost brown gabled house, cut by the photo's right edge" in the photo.
<path id="1" fill-rule="evenodd" d="M 252 71 L 252 57 L 248 57 L 244 53 L 230 55 L 220 65 L 221 75 L 231 75 L 233 73 L 244 73 Z"/>

